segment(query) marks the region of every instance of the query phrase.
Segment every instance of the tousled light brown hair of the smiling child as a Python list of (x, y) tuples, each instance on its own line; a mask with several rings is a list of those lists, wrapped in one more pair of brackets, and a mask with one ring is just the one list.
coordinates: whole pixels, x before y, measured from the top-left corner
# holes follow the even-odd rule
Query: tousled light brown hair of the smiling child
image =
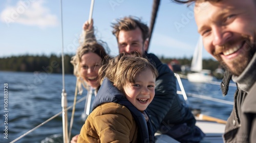
[(99, 69), (99, 80), (102, 84), (104, 77), (108, 78), (113, 84), (123, 91), (123, 86), (127, 82), (135, 83), (137, 76), (144, 69), (151, 69), (155, 78), (158, 76), (158, 71), (155, 67), (155, 63), (152, 61), (139, 57), (139, 54), (125, 55), (121, 53), (114, 59), (111, 59), (108, 64), (104, 64)]

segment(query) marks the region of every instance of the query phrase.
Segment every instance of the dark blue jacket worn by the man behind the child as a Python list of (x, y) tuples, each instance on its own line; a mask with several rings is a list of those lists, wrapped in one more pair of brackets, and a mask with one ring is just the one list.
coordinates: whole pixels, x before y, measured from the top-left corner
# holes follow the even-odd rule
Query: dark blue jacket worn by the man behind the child
[(173, 71), (154, 54), (145, 56), (155, 62), (158, 71), (155, 97), (146, 109), (154, 132), (158, 130), (180, 142), (200, 141), (205, 134), (196, 126), (191, 110), (180, 100)]

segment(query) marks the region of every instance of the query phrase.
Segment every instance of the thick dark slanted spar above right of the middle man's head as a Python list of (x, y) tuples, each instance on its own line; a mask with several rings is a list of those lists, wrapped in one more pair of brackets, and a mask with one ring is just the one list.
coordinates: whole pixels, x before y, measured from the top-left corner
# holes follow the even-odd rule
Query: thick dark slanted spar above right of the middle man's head
[(148, 51), (148, 48), (150, 47), (150, 41), (151, 41), (154, 26), (155, 26), (159, 5), (160, 5), (160, 0), (154, 0), (153, 10), (151, 15), (151, 23), (150, 23), (150, 37), (148, 37), (147, 51)]

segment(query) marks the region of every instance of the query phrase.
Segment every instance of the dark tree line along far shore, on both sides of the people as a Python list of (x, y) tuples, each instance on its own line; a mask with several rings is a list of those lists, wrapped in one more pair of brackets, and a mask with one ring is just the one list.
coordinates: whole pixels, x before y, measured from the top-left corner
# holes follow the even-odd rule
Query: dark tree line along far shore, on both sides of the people
[[(70, 63), (73, 55), (64, 56), (64, 66), (66, 74), (73, 74), (73, 65)], [(180, 65), (191, 64), (191, 58), (164, 58), (159, 57), (163, 63), (171, 63), (172, 61), (178, 61)], [(214, 59), (203, 59), (203, 69), (209, 69), (214, 71), (219, 67), (219, 62)], [(57, 56), (51, 54), (46, 55), (22, 55), (22, 56), (11, 56), (0, 58), (0, 70), (1, 71), (45, 71), (47, 73), (61, 73), (62, 72), (62, 61), (61, 55)]]

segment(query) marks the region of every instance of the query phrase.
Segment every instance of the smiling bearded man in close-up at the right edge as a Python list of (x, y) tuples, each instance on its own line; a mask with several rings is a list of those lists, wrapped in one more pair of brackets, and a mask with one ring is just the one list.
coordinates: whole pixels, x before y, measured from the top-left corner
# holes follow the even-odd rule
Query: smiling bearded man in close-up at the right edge
[(174, 1), (195, 2), (195, 19), (204, 47), (226, 68), (223, 95), (231, 78), (237, 83), (224, 141), (256, 142), (256, 1)]

